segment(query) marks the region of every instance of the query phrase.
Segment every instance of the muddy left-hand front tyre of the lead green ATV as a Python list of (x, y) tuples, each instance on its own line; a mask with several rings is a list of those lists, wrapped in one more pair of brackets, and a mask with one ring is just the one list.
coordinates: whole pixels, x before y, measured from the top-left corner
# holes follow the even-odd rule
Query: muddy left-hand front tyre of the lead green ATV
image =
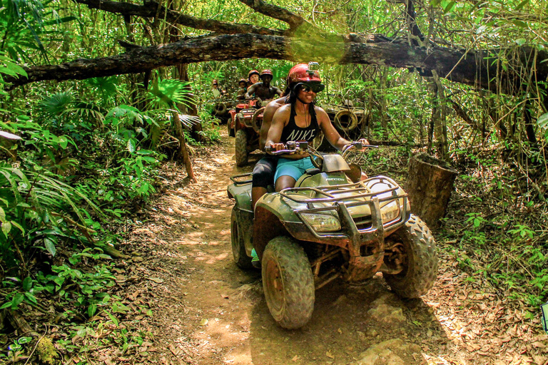
[(275, 237), (263, 253), (263, 291), (270, 314), (281, 327), (303, 327), (312, 317), (315, 288), (308, 257), (295, 240)]

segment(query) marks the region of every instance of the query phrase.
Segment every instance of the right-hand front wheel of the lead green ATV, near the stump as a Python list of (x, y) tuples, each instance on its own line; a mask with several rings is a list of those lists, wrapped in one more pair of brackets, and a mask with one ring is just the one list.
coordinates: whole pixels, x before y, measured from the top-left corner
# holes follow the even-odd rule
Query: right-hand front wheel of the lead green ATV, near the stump
[(425, 222), (411, 215), (409, 220), (387, 240), (392, 240), (395, 250), (385, 255), (385, 264), (394, 266), (396, 258), (402, 272), (383, 274), (388, 285), (402, 298), (418, 298), (430, 290), (437, 276), (436, 242)]

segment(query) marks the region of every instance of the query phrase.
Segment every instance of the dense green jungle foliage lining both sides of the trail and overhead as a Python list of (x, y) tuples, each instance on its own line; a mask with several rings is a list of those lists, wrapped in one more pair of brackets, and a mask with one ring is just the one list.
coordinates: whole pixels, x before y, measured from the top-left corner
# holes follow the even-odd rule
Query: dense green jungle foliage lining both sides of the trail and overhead
[[(390, 37), (408, 33), (402, 4), (276, 3), (325, 31)], [(287, 28), (237, 0), (170, 4), (203, 19)], [(432, 0), (417, 2), (415, 10), (423, 34), (438, 44), (507, 49), (492, 54), (492, 62), (505, 71), (511, 67), (507, 57), (512, 48), (529, 45), (541, 51), (547, 46), (546, 6), (539, 0)], [(125, 23), (121, 16), (66, 0), (2, 0), (0, 83), (4, 85), (7, 75), (25, 77), (21, 64), (117, 54), (119, 38), (141, 45), (168, 43), (173, 41), (171, 27), (162, 19), (131, 17)], [(176, 36), (206, 33), (184, 27), (178, 32)], [(118, 227), (156, 192), (161, 163), (176, 155), (177, 143), (170, 139), (173, 113), (181, 113), (186, 136), (195, 148), (215, 143), (220, 133), (211, 123), (215, 122), (210, 116), (211, 81), (218, 79), (220, 88), (233, 96), (238, 80), (250, 69), (270, 68), (273, 83), (283, 89), (291, 66), (265, 59), (205, 62), (188, 65), (188, 78), (161, 69), (150, 78), (129, 75), (3, 89), (0, 292), (5, 299), (1, 308), (45, 311), (45, 303), (55, 298), (71, 324), (71, 336), (93, 331), (95, 322), (83, 322), (100, 312), (117, 324), (116, 313), (126, 309), (119, 298), (106, 294), (114, 279), (112, 247), (121, 240)], [(368, 121), (360, 125), (359, 135), (347, 137), (363, 135), (401, 145), (362, 156), (360, 163), (369, 173), (394, 169), (402, 173), (416, 148), (455, 165), (461, 175), (440, 232), (440, 240), (447, 242), (442, 247), (455, 254), (472, 278), (487, 278), (502, 294), (525, 301), (534, 313), (548, 294), (548, 114), (539, 91), (546, 81), (534, 80), (532, 70), (523, 70), (528, 92), (507, 96), (443, 79), (445, 93), (440, 94), (432, 93), (432, 78), (416, 71), (322, 66), (327, 86), (319, 96), (323, 106), (349, 99), (367, 110)], [(198, 134), (192, 132), (197, 118), (186, 115), (193, 106), (203, 127)], [(441, 118), (435, 117), (436, 106)], [(150, 315), (146, 307), (141, 310)], [(142, 334), (117, 335), (114, 341), (122, 349), (127, 349), (128, 341), (142, 341)], [(26, 339), (11, 344), (11, 355)], [(77, 351), (70, 338), (62, 345), (66, 351)]]

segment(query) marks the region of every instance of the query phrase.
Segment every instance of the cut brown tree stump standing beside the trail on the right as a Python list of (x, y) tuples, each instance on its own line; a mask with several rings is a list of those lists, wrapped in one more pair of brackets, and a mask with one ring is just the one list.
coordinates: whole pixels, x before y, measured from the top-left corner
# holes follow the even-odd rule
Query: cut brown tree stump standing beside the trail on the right
[(407, 181), (411, 212), (421, 217), (430, 229), (440, 227), (456, 177), (457, 170), (449, 163), (427, 153), (411, 158)]

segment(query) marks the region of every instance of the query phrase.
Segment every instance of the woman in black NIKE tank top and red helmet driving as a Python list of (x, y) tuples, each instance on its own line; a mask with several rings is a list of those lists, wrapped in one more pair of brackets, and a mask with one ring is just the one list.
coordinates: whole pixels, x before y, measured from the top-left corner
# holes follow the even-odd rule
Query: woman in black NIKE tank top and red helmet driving
[[(329, 143), (338, 150), (344, 150), (350, 141), (342, 138), (331, 123), (323, 108), (314, 105), (314, 100), (325, 86), (320, 73), (310, 69), (318, 63), (300, 63), (289, 71), (290, 95), (288, 103), (276, 110), (265, 146), (272, 150), (283, 150), (288, 141), (311, 143), (322, 130)], [(368, 145), (367, 140), (360, 142)], [(310, 156), (305, 154), (280, 155), (275, 173), (275, 190), (295, 186), (295, 182), (307, 169), (314, 168)]]

